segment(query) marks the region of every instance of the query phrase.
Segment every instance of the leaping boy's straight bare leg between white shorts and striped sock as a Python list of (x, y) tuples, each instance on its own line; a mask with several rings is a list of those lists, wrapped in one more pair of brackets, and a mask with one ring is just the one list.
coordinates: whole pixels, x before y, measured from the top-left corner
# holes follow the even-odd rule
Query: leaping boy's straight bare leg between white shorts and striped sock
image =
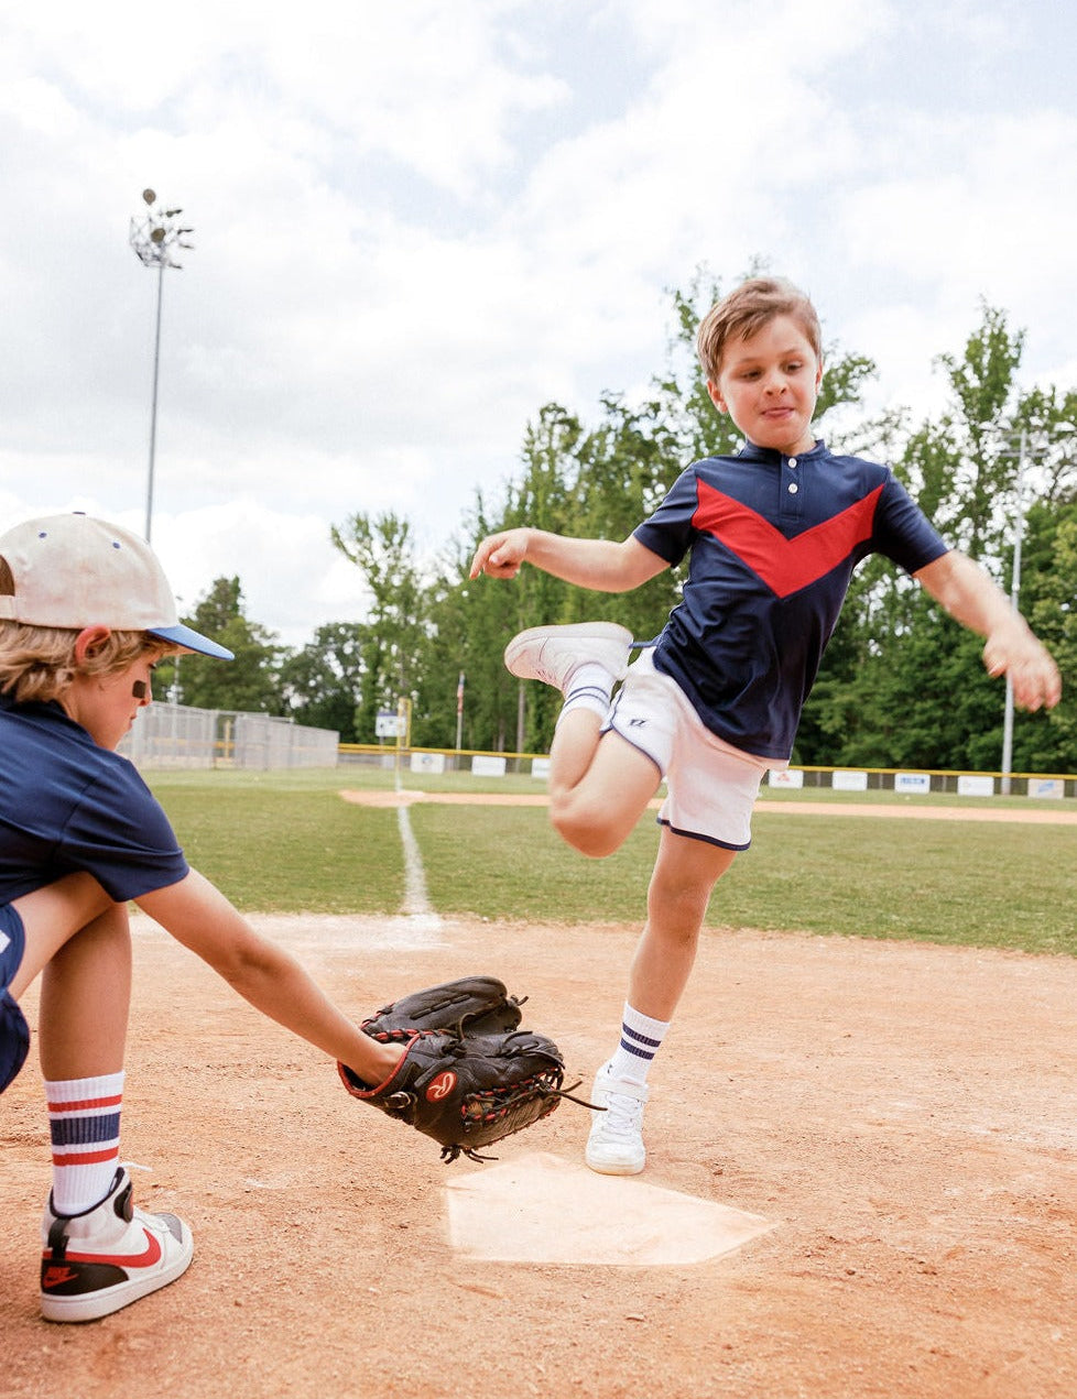
[(696, 960), (711, 891), (735, 853), (662, 827), (647, 890), (647, 923), (629, 975), (629, 1004), (641, 1014), (672, 1018)]

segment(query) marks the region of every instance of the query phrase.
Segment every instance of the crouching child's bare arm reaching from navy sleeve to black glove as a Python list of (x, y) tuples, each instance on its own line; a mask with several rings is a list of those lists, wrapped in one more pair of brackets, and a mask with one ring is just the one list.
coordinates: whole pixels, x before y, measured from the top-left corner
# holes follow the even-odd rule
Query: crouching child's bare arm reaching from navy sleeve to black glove
[(197, 870), (136, 902), (256, 1010), (346, 1063), (363, 1080), (382, 1083), (399, 1059), (399, 1045), (380, 1045), (364, 1035), (290, 953), (256, 933)]

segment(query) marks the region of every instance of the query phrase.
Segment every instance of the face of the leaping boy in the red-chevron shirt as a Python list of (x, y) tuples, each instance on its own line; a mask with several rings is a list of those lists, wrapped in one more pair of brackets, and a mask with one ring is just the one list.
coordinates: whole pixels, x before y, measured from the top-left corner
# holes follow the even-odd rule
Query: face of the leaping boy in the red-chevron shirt
[(753, 336), (730, 340), (707, 392), (749, 442), (784, 456), (815, 446), (811, 420), (822, 364), (793, 316), (774, 316)]

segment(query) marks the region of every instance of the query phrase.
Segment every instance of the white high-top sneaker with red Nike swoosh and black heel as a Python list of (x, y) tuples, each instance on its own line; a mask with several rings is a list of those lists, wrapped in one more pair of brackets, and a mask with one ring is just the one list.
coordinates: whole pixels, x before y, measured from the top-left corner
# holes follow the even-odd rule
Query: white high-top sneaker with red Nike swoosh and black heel
[(55, 1214), (50, 1198), (41, 1233), (41, 1314), (46, 1321), (108, 1316), (175, 1281), (193, 1252), (183, 1220), (133, 1206), (125, 1167), (105, 1199), (84, 1214)]

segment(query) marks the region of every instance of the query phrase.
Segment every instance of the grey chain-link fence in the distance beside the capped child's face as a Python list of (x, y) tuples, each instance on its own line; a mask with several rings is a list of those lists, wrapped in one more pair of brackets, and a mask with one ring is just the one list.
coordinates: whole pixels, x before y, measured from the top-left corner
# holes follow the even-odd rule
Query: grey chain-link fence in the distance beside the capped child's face
[(333, 768), (339, 739), (267, 713), (158, 704), (140, 712), (118, 751), (139, 768)]

